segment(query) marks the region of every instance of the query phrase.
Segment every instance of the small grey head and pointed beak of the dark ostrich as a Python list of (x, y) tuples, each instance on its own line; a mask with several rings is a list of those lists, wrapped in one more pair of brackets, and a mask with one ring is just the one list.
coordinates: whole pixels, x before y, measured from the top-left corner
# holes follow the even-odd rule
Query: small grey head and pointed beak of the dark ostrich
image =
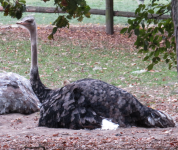
[(21, 25), (29, 30), (29, 32), (32, 32), (34, 29), (36, 29), (36, 23), (35, 18), (32, 16), (24, 17), (21, 21), (18, 21), (16, 24)]

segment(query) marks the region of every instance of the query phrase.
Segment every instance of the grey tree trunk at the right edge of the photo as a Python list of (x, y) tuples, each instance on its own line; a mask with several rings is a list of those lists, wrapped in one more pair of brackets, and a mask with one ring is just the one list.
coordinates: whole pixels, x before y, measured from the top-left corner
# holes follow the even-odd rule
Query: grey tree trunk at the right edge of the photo
[(172, 19), (174, 23), (174, 36), (176, 42), (177, 73), (178, 73), (178, 0), (172, 0)]

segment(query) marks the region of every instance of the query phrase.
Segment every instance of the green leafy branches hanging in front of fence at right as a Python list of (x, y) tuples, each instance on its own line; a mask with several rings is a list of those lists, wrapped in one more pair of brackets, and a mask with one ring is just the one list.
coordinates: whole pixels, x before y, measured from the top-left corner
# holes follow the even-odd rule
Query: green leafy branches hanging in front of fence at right
[[(133, 33), (137, 36), (135, 46), (139, 49), (138, 52), (147, 54), (144, 61), (152, 60), (147, 67), (148, 70), (151, 70), (161, 60), (168, 64), (169, 69), (177, 64), (171, 2), (158, 4), (157, 1), (152, 0), (147, 6), (139, 5), (135, 10), (137, 17), (129, 19), (129, 27), (121, 30), (121, 33), (129, 33), (129, 37)], [(170, 14), (170, 18), (160, 20), (159, 17), (164, 14)]]

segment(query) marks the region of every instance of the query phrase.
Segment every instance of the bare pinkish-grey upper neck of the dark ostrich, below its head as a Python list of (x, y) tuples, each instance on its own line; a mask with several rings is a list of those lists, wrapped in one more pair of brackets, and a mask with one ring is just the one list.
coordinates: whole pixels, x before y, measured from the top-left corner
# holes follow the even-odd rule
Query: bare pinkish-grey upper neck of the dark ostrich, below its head
[(37, 33), (36, 26), (30, 31), (31, 36), (31, 69), (38, 68), (38, 55), (37, 55)]

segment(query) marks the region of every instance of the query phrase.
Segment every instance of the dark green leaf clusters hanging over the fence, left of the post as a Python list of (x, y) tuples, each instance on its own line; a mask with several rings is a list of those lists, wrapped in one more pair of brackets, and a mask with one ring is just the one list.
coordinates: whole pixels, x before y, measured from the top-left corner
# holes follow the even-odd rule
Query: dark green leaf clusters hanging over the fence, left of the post
[[(50, 0), (42, 0), (44, 2)], [(20, 19), (23, 12), (26, 10), (26, 0), (0, 0), (1, 5), (4, 8), (4, 16), (11, 16), (13, 18)], [(90, 17), (90, 7), (86, 4), (85, 0), (55, 0), (54, 5), (56, 10), (58, 8), (67, 12), (67, 15), (59, 15), (58, 18), (52, 23), (55, 25), (52, 33), (49, 35), (49, 39), (53, 38), (58, 28), (68, 27), (69, 20), (77, 18), (78, 21), (82, 21), (84, 17)]]

